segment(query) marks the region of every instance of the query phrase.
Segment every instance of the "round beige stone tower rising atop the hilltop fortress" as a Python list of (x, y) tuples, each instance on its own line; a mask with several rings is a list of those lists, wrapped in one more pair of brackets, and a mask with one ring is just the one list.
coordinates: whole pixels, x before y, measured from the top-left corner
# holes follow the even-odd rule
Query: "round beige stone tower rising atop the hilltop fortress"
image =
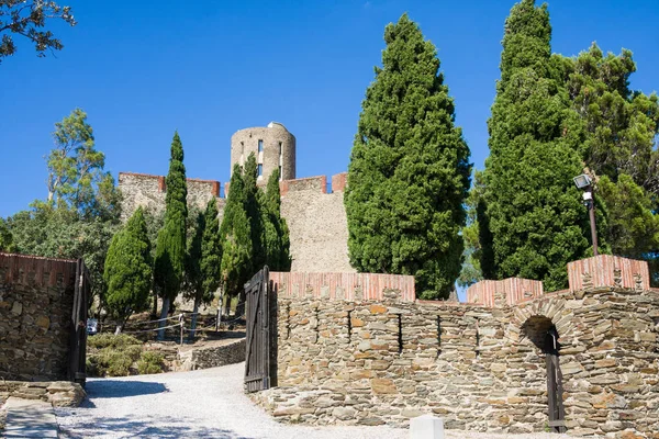
[(245, 128), (231, 136), (231, 172), (235, 164), (245, 165), (254, 153), (258, 164), (258, 184), (279, 168), (281, 180), (295, 178), (295, 136), (282, 124), (270, 122), (266, 127)]

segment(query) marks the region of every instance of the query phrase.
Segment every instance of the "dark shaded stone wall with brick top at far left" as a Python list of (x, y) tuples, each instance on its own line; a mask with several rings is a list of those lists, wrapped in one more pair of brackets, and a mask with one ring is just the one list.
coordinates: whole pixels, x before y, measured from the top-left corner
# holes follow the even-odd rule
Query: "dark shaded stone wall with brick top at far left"
[(66, 380), (76, 261), (0, 254), (0, 378)]

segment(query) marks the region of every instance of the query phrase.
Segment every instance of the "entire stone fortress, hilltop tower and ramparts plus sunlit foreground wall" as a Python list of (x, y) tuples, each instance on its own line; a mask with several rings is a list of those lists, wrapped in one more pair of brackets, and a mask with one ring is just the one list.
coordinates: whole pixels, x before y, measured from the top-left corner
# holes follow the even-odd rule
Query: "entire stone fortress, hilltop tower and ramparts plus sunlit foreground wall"
[[(257, 154), (259, 184), (279, 167), (291, 272), (270, 272), (273, 387), (252, 394), (280, 421), (659, 439), (659, 290), (647, 262), (573, 261), (569, 289), (481, 281), (467, 302), (415, 297), (412, 277), (356, 273), (346, 173), (297, 179), (295, 138), (278, 123), (237, 132), (231, 166)], [(165, 177), (121, 172), (124, 215), (161, 210)], [(226, 192), (226, 191), (225, 191)], [(205, 206), (217, 181), (188, 180)]]

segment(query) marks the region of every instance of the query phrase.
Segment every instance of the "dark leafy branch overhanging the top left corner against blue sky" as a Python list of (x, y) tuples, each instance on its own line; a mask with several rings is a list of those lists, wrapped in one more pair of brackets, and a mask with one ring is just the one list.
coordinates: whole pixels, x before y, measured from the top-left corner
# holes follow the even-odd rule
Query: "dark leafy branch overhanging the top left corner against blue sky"
[(64, 45), (53, 32), (43, 30), (46, 22), (54, 20), (62, 20), (70, 26), (77, 24), (71, 8), (60, 7), (54, 1), (0, 1), (0, 63), (16, 52), (14, 36), (32, 42), (40, 57), (46, 56), (46, 50), (62, 50)]

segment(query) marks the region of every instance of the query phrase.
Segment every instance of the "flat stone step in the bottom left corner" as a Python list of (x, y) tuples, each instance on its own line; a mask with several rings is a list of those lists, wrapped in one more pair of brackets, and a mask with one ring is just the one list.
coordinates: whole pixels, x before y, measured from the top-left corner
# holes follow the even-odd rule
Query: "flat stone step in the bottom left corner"
[(58, 438), (59, 428), (51, 403), (12, 396), (7, 399), (5, 408), (4, 438)]

